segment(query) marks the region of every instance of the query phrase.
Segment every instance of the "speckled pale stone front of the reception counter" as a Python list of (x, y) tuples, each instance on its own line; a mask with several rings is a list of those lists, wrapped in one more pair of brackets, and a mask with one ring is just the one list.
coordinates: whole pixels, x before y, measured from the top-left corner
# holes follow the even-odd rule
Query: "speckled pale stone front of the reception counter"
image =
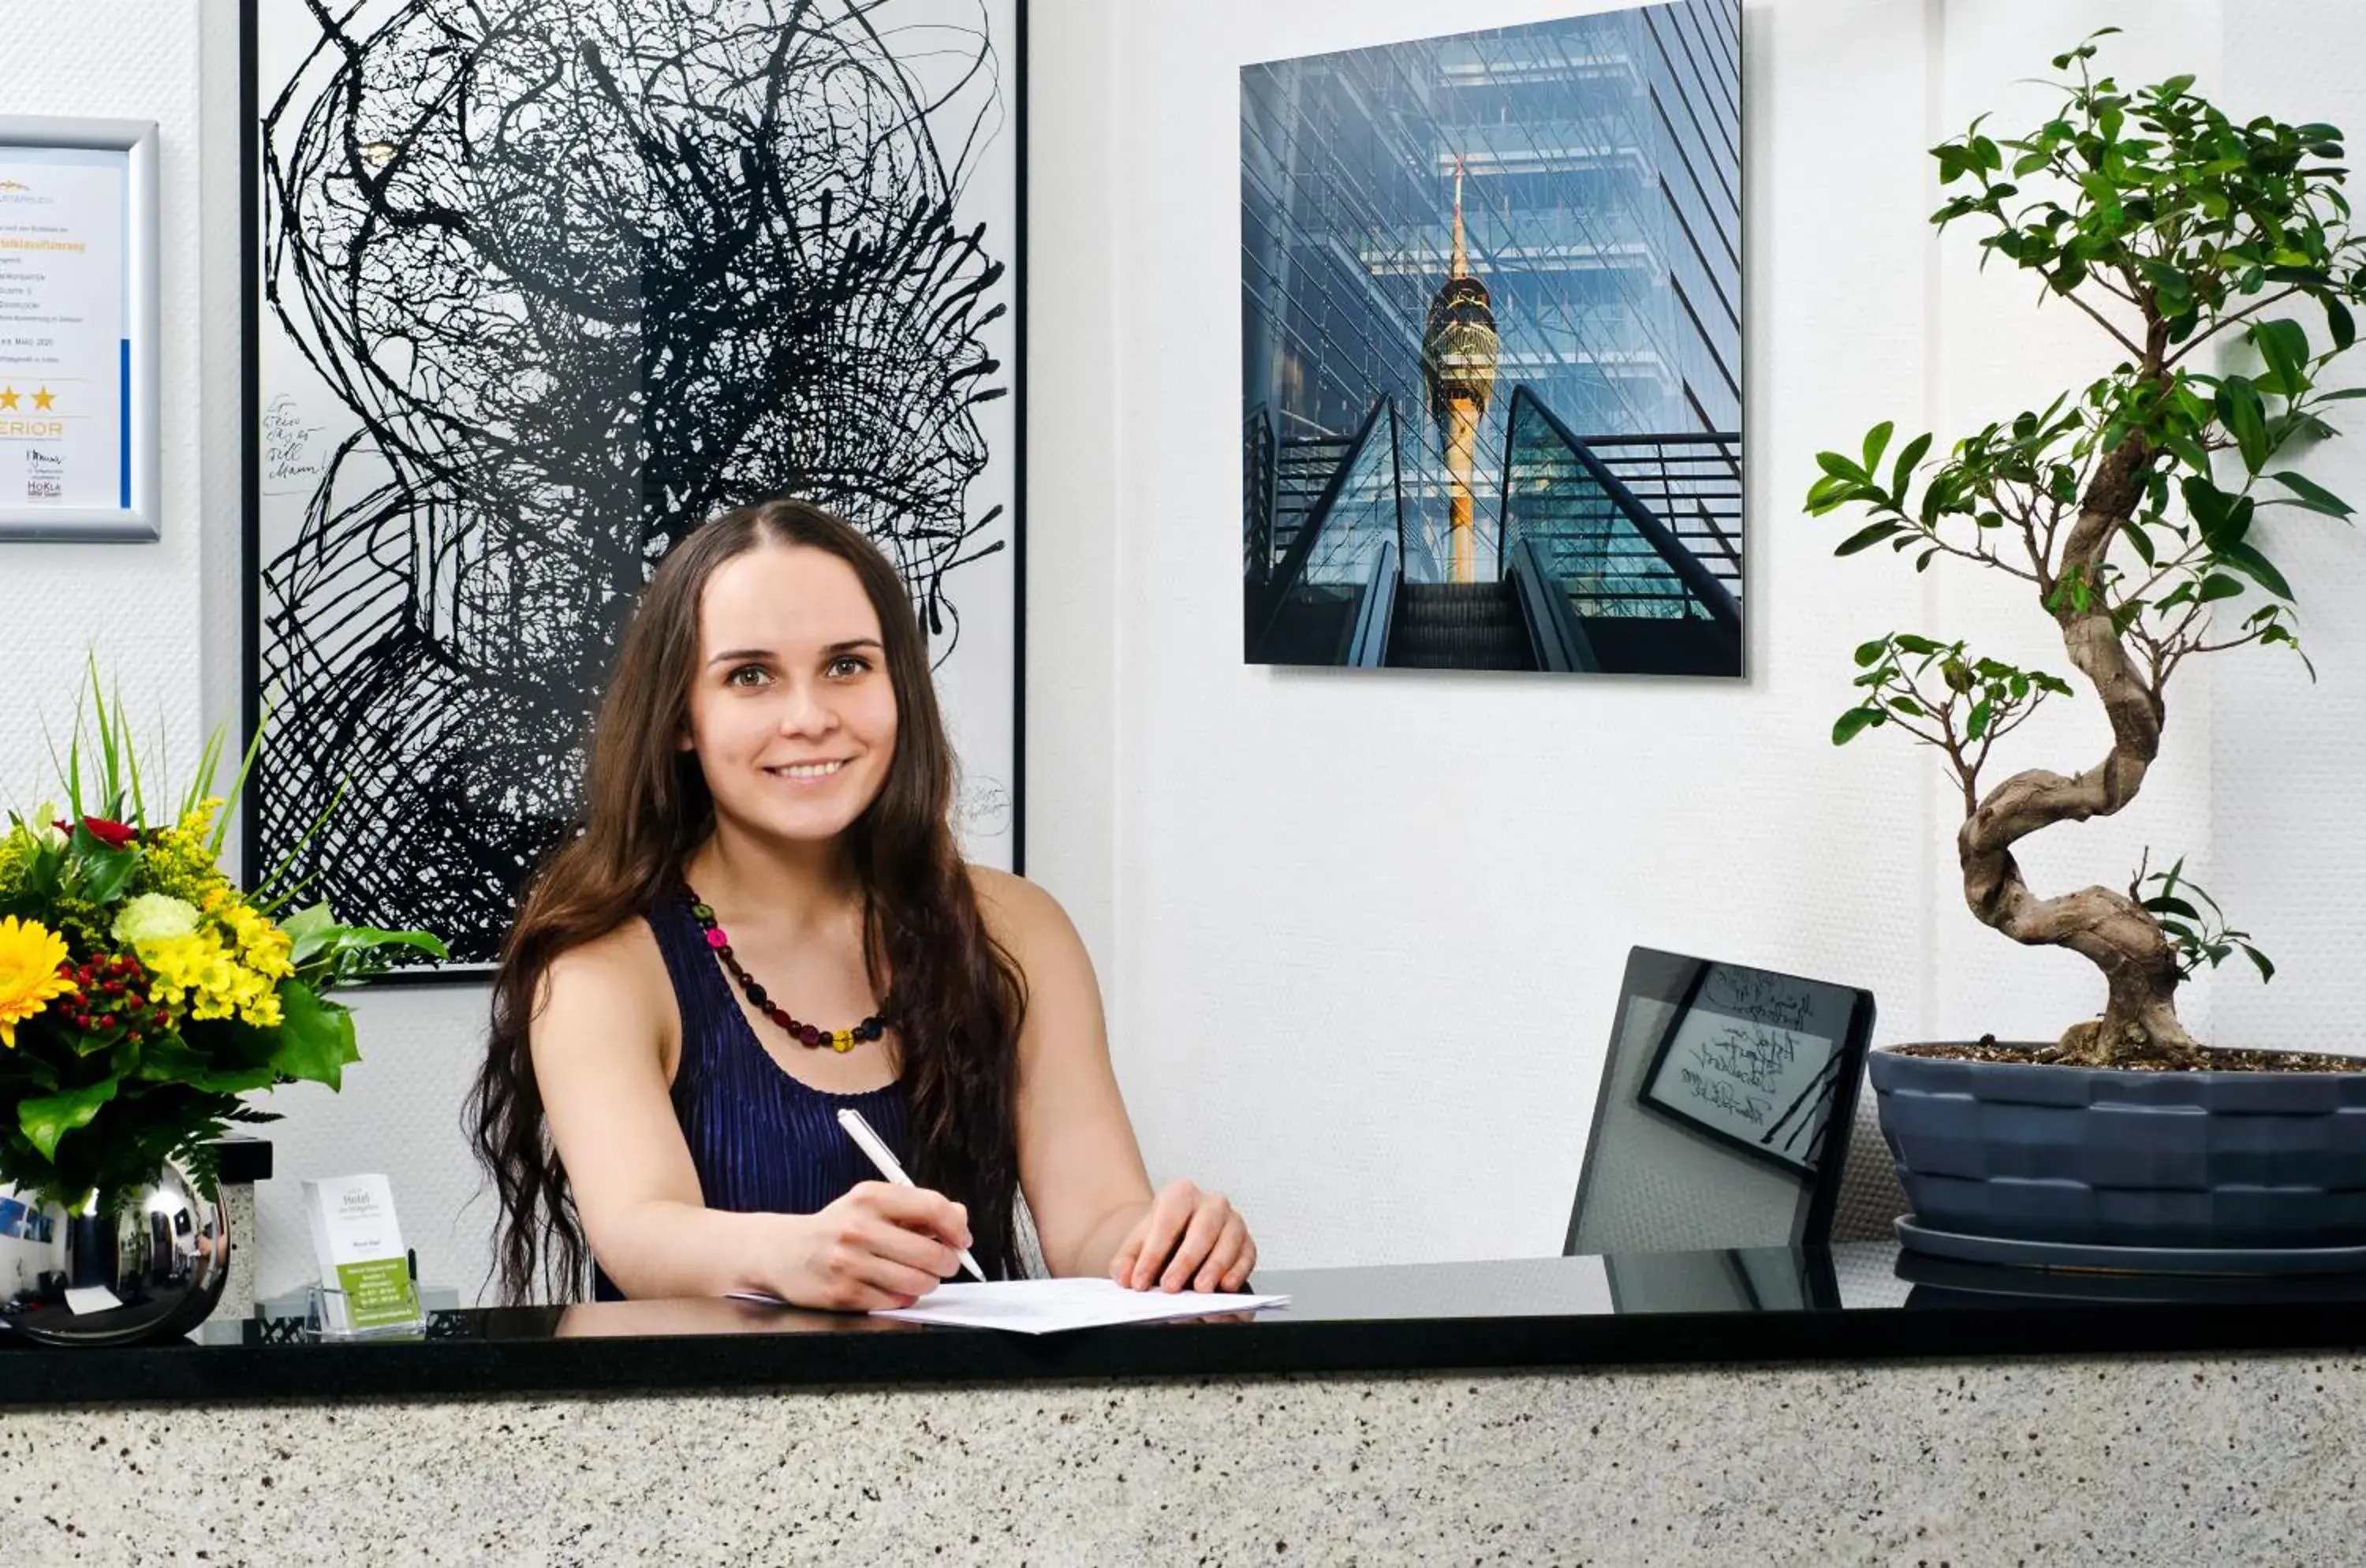
[[(620, 1346), (620, 1353), (625, 1346)], [(0, 1412), (19, 1563), (2357, 1563), (2366, 1360)]]

